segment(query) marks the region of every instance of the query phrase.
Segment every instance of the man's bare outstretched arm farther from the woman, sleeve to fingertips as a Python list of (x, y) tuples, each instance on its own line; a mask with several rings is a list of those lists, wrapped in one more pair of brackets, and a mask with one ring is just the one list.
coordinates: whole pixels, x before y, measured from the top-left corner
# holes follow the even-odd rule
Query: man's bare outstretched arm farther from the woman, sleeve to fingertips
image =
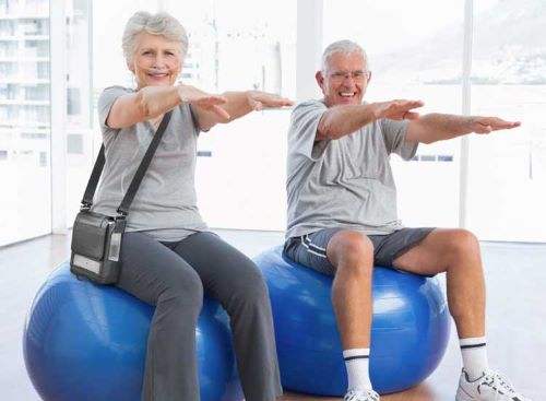
[(405, 141), (432, 143), (471, 132), (489, 133), (520, 125), (520, 121), (505, 121), (498, 117), (428, 114), (410, 122)]

